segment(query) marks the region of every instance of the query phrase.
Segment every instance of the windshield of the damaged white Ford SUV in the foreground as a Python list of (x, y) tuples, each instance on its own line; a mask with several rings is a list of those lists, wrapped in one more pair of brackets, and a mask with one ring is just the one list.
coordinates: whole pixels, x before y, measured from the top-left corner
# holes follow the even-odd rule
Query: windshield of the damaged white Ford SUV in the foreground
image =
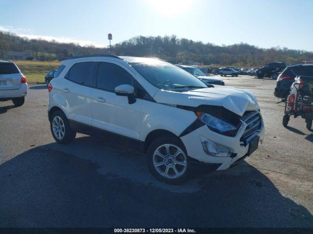
[(159, 89), (187, 91), (207, 88), (198, 78), (179, 67), (168, 63), (130, 63), (134, 69)]

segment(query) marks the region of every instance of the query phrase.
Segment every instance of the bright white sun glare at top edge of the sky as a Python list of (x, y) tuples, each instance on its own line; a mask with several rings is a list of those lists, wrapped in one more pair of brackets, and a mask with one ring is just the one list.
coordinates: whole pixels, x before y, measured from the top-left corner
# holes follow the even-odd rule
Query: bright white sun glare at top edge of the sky
[(151, 5), (157, 11), (166, 14), (174, 15), (185, 12), (193, 0), (149, 0)]

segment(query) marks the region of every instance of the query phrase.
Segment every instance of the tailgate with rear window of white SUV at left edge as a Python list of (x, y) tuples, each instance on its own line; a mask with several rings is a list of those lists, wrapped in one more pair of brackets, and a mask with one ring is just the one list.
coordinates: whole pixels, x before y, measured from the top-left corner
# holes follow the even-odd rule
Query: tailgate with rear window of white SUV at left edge
[(19, 89), (21, 72), (13, 62), (0, 62), (0, 90)]

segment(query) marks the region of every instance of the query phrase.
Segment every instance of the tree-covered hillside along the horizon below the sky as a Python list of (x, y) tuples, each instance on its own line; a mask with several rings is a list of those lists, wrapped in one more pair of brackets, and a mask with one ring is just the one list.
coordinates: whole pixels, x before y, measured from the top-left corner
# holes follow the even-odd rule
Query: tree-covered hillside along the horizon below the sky
[[(6, 51), (31, 52), (38, 60), (63, 60), (74, 55), (109, 53), (108, 48), (77, 43), (60, 43), (43, 39), (21, 38), (15, 34), (0, 32), (0, 57)], [(215, 45), (177, 36), (138, 36), (112, 46), (112, 53), (118, 56), (152, 56), (172, 63), (193, 63), (232, 65), (238, 67), (260, 67), (268, 62), (282, 61), (288, 64), (312, 60), (313, 52), (291, 50), (286, 47), (264, 49), (246, 43)]]

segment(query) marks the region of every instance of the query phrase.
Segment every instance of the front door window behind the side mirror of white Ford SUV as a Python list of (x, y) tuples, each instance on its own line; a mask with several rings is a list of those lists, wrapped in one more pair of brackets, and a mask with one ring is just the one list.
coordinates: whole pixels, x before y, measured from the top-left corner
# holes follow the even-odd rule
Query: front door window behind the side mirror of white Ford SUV
[(97, 88), (114, 92), (121, 84), (133, 84), (134, 78), (124, 68), (109, 62), (99, 62)]

